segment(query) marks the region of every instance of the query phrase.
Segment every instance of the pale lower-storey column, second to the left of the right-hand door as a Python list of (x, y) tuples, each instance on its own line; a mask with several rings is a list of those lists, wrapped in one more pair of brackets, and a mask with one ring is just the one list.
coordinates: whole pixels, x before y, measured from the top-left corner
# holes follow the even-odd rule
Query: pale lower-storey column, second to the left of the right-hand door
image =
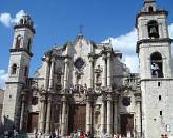
[(107, 134), (112, 134), (112, 97), (107, 95)]

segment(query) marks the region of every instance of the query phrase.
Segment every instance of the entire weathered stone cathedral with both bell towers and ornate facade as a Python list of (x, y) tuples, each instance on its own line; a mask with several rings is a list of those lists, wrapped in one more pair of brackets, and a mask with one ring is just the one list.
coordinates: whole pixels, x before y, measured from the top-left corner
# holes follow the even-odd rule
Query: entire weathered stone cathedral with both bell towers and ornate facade
[(42, 66), (29, 78), (36, 30), (25, 14), (14, 26), (9, 50), (2, 129), (62, 137), (75, 130), (95, 137), (173, 135), (167, 16), (155, 0), (144, 0), (136, 18), (139, 74), (129, 72), (111, 42), (95, 43), (80, 32), (73, 41), (46, 51)]

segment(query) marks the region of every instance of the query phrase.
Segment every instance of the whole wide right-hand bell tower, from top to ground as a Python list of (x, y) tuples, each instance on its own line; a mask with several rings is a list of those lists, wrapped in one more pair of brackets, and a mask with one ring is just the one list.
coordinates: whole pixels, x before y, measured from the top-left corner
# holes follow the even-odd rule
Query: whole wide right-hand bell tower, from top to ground
[(144, 0), (136, 19), (145, 138), (173, 134), (172, 40), (167, 16), (167, 11), (157, 7), (156, 0)]

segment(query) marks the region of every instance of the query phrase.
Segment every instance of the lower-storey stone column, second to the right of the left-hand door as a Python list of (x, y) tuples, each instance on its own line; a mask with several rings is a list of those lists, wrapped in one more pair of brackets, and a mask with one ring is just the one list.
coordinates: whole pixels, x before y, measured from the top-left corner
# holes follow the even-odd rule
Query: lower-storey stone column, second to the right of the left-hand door
[(52, 103), (52, 95), (49, 93), (47, 99), (47, 113), (46, 113), (46, 133), (49, 134), (50, 132), (50, 110), (51, 110), (51, 103)]

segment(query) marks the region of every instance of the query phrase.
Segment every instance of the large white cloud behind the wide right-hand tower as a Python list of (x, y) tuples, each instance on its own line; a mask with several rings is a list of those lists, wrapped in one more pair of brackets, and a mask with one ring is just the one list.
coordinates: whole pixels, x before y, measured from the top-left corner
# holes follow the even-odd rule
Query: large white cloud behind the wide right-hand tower
[[(173, 39), (173, 23), (168, 26), (169, 36)], [(119, 50), (123, 54), (123, 61), (130, 69), (130, 72), (139, 72), (139, 61), (136, 53), (137, 30), (120, 35), (117, 38), (108, 38), (104, 42), (112, 41), (114, 50)]]

